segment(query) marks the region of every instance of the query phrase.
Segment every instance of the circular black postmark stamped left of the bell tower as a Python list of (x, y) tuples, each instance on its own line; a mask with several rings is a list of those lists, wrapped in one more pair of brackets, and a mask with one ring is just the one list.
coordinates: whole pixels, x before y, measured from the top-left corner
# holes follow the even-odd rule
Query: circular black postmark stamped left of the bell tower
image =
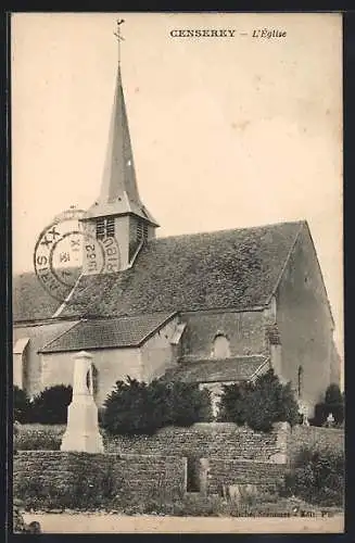
[(85, 212), (68, 210), (58, 215), (40, 233), (34, 253), (38, 280), (55, 300), (68, 300), (78, 278), (118, 272), (119, 248), (114, 237), (98, 239), (80, 222)]

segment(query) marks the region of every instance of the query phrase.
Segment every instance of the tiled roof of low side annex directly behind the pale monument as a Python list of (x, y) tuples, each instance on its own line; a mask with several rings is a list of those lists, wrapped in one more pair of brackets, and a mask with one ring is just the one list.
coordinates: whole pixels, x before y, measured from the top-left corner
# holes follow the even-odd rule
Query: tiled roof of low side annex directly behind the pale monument
[(155, 313), (138, 317), (81, 320), (45, 345), (40, 352), (138, 346), (173, 316), (172, 313)]

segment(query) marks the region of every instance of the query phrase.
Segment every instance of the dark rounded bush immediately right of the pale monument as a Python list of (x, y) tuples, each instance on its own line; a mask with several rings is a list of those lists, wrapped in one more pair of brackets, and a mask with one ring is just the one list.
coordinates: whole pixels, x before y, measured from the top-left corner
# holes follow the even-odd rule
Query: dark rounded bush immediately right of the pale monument
[(164, 426), (211, 420), (211, 399), (198, 384), (117, 381), (104, 403), (103, 427), (111, 434), (152, 434)]

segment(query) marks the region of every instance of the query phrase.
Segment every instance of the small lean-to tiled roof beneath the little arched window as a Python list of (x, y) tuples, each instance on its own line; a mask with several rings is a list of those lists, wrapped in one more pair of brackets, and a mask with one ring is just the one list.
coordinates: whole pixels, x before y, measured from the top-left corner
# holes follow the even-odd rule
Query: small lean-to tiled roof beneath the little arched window
[(180, 363), (177, 369), (167, 371), (165, 378), (185, 382), (245, 381), (266, 361), (265, 356), (255, 355)]

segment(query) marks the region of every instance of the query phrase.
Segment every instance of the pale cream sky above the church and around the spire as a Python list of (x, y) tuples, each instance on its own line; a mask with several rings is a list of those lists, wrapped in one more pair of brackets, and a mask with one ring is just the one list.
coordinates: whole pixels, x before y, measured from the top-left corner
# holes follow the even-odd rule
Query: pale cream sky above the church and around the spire
[[(13, 273), (100, 192), (117, 68), (157, 236), (306, 219), (343, 350), (339, 14), (12, 15)], [(234, 29), (173, 38), (173, 29)], [(258, 28), (283, 38), (253, 38)], [(246, 33), (241, 36), (240, 33)]]

